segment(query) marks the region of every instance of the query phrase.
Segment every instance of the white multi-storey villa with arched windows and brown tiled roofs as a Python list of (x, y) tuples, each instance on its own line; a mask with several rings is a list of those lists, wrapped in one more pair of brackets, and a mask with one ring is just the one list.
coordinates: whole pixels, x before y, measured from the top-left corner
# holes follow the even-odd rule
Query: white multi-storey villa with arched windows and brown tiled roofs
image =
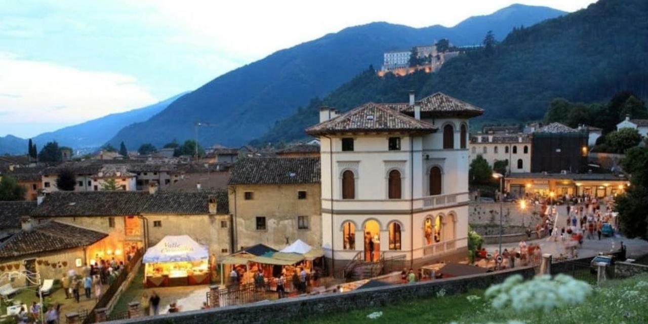
[(482, 113), (413, 91), (408, 103), (321, 108), (307, 133), (321, 141), (322, 246), (334, 271), (354, 259), (465, 255), (469, 119)]

